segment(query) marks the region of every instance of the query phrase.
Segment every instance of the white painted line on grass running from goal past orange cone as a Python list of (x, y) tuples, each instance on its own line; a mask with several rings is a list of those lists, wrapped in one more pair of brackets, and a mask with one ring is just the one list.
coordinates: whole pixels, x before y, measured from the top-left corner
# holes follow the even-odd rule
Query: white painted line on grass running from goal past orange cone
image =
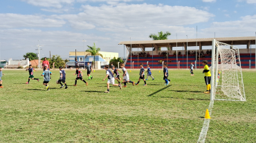
[[(213, 107), (213, 104), (214, 104), (214, 101), (210, 101), (210, 104), (209, 104), (209, 114), (212, 115), (212, 107)], [(208, 128), (209, 128), (209, 124), (210, 124), (210, 119), (205, 119), (204, 122), (203, 122), (203, 128), (201, 130), (201, 133), (199, 135), (199, 139), (197, 142), (205, 142), (205, 138), (206, 138), (206, 135), (207, 135), (207, 131), (208, 131)]]

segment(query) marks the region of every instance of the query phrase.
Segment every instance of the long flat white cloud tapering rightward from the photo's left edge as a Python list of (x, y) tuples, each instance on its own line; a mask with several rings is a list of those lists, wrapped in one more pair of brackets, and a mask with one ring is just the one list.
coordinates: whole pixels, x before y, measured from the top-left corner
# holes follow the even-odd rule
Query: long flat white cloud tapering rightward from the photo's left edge
[(0, 14), (0, 28), (56, 28), (65, 24), (61, 19), (44, 15)]

